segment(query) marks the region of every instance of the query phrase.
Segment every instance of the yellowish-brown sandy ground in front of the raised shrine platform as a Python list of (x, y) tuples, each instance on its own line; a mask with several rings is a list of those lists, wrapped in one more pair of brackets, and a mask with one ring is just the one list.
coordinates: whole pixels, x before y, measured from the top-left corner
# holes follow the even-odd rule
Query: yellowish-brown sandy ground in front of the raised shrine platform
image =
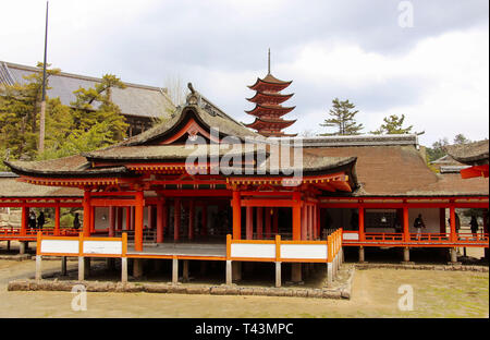
[[(44, 274), (59, 260), (42, 263)], [(69, 262), (69, 269), (76, 262)], [(468, 271), (357, 270), (351, 300), (87, 293), (87, 311), (71, 308), (70, 292), (9, 292), (10, 280), (34, 277), (35, 262), (0, 260), (0, 317), (488, 317), (489, 275)], [(401, 284), (414, 288), (414, 311), (397, 307)]]

